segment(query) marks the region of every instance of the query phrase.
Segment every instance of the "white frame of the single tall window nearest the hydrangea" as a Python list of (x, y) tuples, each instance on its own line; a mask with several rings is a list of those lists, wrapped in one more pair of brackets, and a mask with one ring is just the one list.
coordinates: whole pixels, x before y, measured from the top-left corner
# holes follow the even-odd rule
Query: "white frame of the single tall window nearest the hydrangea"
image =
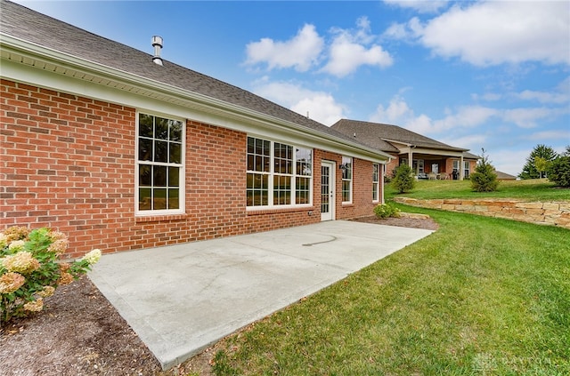
[[(178, 177), (179, 181), (179, 204), (180, 207), (178, 209), (163, 209), (163, 210), (139, 210), (139, 115), (150, 115), (150, 116), (159, 116), (163, 118), (167, 118), (170, 120), (177, 120), (182, 122), (183, 124), (183, 131), (182, 131), (182, 148), (181, 148), (181, 161), (182, 164), (168, 164), (168, 163), (159, 163), (159, 162), (152, 162), (151, 164), (154, 165), (166, 165), (166, 166), (173, 166), (180, 167), (180, 175)], [(166, 114), (160, 114), (153, 111), (146, 111), (146, 110), (137, 110), (136, 111), (136, 119), (135, 119), (135, 127), (134, 127), (134, 215), (136, 217), (154, 217), (160, 215), (177, 215), (183, 214), (185, 212), (185, 196), (186, 196), (186, 119), (180, 118), (178, 116), (169, 116)], [(148, 164), (148, 161), (142, 161), (143, 164)]]

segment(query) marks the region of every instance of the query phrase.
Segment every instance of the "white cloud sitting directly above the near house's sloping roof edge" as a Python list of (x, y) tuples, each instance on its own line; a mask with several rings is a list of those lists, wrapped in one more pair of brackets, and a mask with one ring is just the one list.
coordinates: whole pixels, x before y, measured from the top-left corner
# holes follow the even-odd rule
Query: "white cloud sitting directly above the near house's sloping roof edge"
[(254, 83), (254, 92), (268, 100), (280, 103), (298, 114), (325, 125), (335, 124), (344, 116), (344, 106), (328, 92), (314, 92), (301, 84), (270, 82), (267, 77)]

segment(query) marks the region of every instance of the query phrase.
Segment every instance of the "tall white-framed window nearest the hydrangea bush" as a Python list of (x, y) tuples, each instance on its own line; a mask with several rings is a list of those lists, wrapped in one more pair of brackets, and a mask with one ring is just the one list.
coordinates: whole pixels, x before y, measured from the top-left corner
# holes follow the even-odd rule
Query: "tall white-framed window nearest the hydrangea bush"
[(135, 213), (184, 212), (184, 122), (137, 113)]

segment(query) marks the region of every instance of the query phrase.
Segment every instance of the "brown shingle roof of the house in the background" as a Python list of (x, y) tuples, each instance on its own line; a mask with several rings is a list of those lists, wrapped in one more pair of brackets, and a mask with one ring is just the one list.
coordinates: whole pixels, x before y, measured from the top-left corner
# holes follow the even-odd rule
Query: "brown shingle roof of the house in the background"
[(346, 135), (353, 136), (354, 140), (358, 140), (372, 148), (379, 148), (387, 153), (398, 152), (398, 148), (395, 148), (390, 141), (411, 144), (419, 148), (434, 148), (461, 152), (466, 152), (468, 150), (466, 148), (452, 147), (444, 144), (443, 142), (430, 139), (419, 133), (411, 132), (400, 126), (391, 124), (342, 119), (336, 124), (333, 124), (331, 128), (338, 132), (345, 133)]

